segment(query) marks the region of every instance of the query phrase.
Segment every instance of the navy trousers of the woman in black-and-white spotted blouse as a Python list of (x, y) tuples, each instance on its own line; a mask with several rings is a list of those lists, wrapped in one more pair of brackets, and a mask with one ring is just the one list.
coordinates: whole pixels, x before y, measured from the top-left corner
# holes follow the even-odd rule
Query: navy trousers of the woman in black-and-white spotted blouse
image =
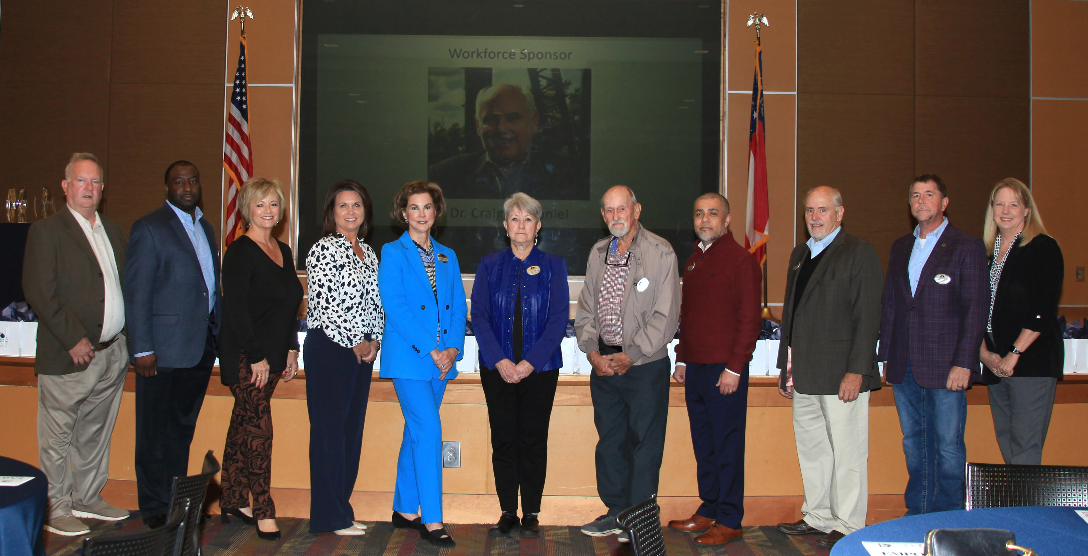
[(309, 330), (302, 353), (310, 415), (310, 532), (336, 531), (355, 520), (349, 498), (359, 474), (374, 363), (360, 363), (350, 347), (329, 339), (321, 329)]

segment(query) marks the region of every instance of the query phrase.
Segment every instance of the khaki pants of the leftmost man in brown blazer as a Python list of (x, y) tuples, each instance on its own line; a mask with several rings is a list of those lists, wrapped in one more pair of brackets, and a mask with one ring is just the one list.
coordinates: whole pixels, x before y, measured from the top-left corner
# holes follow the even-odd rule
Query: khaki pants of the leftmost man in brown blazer
[(102, 502), (127, 372), (128, 346), (121, 336), (96, 351), (85, 371), (38, 375), (38, 458), (49, 480), (46, 519)]

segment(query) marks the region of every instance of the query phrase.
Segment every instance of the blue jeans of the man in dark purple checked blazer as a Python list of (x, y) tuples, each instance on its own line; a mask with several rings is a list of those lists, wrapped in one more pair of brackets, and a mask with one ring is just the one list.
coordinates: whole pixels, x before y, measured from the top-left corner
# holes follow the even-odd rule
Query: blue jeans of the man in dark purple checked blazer
[(967, 392), (924, 388), (910, 363), (902, 384), (892, 386), (911, 475), (903, 494), (906, 515), (963, 509)]

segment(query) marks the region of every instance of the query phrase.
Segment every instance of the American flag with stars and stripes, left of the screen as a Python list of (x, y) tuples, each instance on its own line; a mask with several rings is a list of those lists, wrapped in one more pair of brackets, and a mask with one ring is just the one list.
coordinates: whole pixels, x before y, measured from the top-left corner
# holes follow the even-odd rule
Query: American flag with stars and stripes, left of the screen
[(238, 48), (238, 69), (234, 72), (231, 108), (226, 114), (226, 136), (223, 139), (223, 168), (231, 185), (226, 189), (226, 226), (224, 246), (245, 233), (238, 218), (238, 187), (254, 174), (254, 152), (249, 146), (249, 104), (246, 101), (246, 34)]

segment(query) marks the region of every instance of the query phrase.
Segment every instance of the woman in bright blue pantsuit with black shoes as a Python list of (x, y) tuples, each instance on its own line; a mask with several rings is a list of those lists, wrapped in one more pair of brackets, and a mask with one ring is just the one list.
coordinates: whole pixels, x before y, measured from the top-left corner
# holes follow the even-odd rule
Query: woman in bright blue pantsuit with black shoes
[(390, 214), (407, 228), (382, 247), (378, 286), (385, 308), (380, 376), (393, 379), (405, 417), (397, 458), (393, 526), (455, 546), (442, 526), (442, 420), (446, 381), (465, 349), (465, 286), (453, 249), (431, 238), (446, 202), (442, 189), (408, 182)]

